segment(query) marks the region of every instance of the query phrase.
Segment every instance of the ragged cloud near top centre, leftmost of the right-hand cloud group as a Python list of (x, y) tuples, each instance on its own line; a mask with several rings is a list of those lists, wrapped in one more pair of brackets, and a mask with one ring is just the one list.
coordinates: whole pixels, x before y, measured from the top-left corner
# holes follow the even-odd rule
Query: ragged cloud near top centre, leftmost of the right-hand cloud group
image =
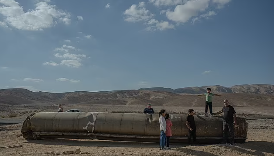
[(144, 2), (139, 2), (139, 5), (133, 4), (123, 14), (125, 15), (125, 21), (128, 22), (148, 21), (155, 16), (145, 8)]

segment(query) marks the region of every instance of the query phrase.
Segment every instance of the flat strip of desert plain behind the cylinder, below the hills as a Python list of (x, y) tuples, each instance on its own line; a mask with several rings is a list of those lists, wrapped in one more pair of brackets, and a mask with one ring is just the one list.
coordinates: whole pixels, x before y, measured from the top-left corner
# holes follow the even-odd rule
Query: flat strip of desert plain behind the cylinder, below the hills
[[(64, 111), (69, 109), (80, 109), (90, 112), (123, 112), (123, 113), (142, 113), (144, 105), (63, 105)], [(178, 107), (178, 106), (152, 106), (155, 113), (161, 109), (166, 109), (169, 114), (187, 114), (189, 108), (194, 109), (196, 114), (204, 114), (205, 107)], [(234, 107), (237, 116), (274, 116), (273, 107)], [(222, 107), (213, 107), (213, 112), (220, 111)], [(0, 119), (25, 119), (28, 115), (35, 112), (56, 112), (58, 105), (0, 105)], [(209, 113), (209, 110), (208, 110)]]

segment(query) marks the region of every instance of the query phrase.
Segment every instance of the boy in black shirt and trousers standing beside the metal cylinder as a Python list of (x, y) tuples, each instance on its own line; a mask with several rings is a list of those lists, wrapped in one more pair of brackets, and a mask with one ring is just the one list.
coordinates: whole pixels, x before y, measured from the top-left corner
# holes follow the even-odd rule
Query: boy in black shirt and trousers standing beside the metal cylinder
[(191, 137), (193, 138), (193, 142), (195, 143), (196, 141), (196, 125), (194, 121), (194, 116), (196, 115), (194, 113), (193, 109), (188, 110), (188, 116), (187, 120), (185, 121), (185, 124), (187, 125), (187, 130), (188, 130), (188, 143), (190, 145), (191, 143)]

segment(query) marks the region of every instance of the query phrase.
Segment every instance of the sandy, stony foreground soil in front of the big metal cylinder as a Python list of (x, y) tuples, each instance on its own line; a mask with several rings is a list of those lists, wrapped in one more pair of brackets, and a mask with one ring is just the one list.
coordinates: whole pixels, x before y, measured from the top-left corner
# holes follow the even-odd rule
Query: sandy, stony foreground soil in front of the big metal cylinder
[[(21, 124), (0, 126), (1, 147), (22, 145), (18, 148), (3, 149), (0, 147), (0, 155), (51, 155), (51, 152), (75, 151), (80, 148), (83, 156), (99, 155), (138, 155), (138, 156), (274, 156), (274, 120), (248, 120), (248, 140), (246, 143), (235, 146), (214, 144), (187, 146), (186, 144), (173, 144), (173, 150), (159, 150), (158, 143), (105, 141), (105, 140), (80, 140), (80, 139), (45, 139), (26, 140), (21, 134)], [(88, 152), (89, 154), (82, 154)]]

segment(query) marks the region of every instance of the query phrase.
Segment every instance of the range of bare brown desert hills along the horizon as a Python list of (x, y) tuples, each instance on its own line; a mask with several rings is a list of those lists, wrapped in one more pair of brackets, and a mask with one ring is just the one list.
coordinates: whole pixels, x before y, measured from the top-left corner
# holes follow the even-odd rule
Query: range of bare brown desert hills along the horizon
[(67, 93), (32, 92), (22, 88), (0, 90), (0, 104), (113, 104), (144, 105), (148, 102), (158, 106), (204, 106), (205, 97), (197, 94), (205, 93), (206, 88), (212, 93), (220, 93), (214, 97), (214, 106), (223, 106), (223, 99), (229, 99), (234, 106), (241, 107), (274, 107), (274, 85), (252, 84), (224, 86), (201, 86), (187, 88), (140, 88), (139, 90)]

